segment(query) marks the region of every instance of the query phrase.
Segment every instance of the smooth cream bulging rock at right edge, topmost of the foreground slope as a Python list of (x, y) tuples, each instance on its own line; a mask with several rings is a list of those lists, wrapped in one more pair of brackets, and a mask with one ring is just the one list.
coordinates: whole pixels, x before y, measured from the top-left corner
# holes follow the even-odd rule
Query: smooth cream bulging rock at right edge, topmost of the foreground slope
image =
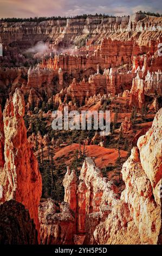
[[(140, 151), (140, 160), (142, 168), (144, 168), (148, 179), (151, 182), (155, 193), (157, 193), (156, 187), (161, 183), (162, 174), (162, 109), (158, 111), (153, 120), (153, 124), (150, 130), (146, 132), (144, 136), (141, 136), (138, 140), (138, 148)], [(147, 157), (149, 155), (149, 157)], [(157, 202), (158, 194), (154, 194), (155, 201)], [(158, 203), (158, 202), (157, 202)]]

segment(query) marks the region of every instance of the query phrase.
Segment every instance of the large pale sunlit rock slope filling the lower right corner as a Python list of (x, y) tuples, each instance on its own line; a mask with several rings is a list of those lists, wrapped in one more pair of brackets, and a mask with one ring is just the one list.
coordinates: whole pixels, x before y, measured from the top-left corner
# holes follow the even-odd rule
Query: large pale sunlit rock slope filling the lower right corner
[[(155, 244), (161, 240), (161, 125), (160, 109), (122, 167), (126, 188), (106, 221), (96, 227), (98, 243)], [(150, 157), (146, 157), (148, 151)]]

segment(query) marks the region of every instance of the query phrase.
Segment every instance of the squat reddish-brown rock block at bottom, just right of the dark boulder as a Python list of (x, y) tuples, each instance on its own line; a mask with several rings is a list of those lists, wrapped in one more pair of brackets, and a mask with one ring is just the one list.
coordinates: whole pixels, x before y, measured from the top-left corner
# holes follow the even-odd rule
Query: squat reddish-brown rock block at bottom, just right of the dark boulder
[(75, 214), (69, 204), (48, 199), (39, 206), (40, 236), (44, 245), (73, 245)]

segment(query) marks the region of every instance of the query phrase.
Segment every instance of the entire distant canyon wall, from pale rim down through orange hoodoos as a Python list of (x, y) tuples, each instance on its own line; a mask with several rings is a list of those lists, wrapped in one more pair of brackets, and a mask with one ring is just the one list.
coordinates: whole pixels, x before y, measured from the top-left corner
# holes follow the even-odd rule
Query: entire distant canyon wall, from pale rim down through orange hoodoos
[[(43, 101), (53, 99), (56, 93), (60, 93), (59, 109), (69, 101), (75, 109), (74, 103), (82, 105), (94, 94), (115, 96), (124, 91), (129, 91), (130, 108), (135, 103), (141, 109), (145, 96), (158, 97), (160, 101), (161, 17), (136, 13), (122, 18), (1, 23), (2, 66), (23, 65), (25, 51), (40, 40), (46, 42), (47, 48), (41, 58), (29, 58), (34, 60), (28, 63), (33, 68), (0, 70), (3, 106), (17, 87), (25, 96), (27, 110), (40, 108)], [(35, 62), (38, 64), (34, 65)]]

